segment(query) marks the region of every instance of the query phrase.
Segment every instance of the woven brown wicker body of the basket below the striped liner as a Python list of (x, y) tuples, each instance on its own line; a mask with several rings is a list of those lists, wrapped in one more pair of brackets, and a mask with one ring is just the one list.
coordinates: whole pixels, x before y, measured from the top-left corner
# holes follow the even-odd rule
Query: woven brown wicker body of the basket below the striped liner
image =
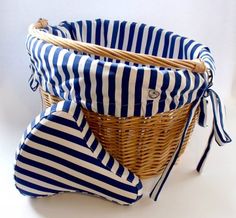
[[(41, 89), (43, 105), (62, 99)], [(140, 178), (161, 174), (180, 143), (191, 104), (151, 117), (115, 117), (83, 108), (86, 120), (102, 146)], [(189, 126), (180, 152), (183, 154), (194, 129), (199, 110)]]

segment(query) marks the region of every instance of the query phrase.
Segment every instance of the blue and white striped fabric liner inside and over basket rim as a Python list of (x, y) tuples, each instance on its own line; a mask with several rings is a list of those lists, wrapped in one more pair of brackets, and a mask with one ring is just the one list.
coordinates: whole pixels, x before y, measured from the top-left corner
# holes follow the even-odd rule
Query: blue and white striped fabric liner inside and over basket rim
[[(62, 22), (45, 30), (54, 35), (110, 48), (179, 59), (202, 59), (215, 71), (202, 44), (153, 26), (126, 21)], [(206, 75), (62, 49), (28, 36), (34, 78), (44, 91), (95, 112), (117, 117), (153, 116), (200, 98)], [(33, 83), (32, 84), (36, 84)], [(156, 91), (159, 96), (150, 98)]]

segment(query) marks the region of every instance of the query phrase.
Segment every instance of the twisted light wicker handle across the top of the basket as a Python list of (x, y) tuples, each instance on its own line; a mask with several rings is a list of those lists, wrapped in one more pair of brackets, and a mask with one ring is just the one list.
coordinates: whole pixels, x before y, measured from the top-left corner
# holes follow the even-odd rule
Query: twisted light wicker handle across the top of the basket
[(129, 51), (123, 51), (120, 49), (106, 48), (96, 44), (65, 39), (40, 31), (41, 28), (45, 28), (46, 26), (48, 26), (48, 21), (46, 19), (39, 19), (35, 24), (30, 25), (29, 34), (46, 42), (52, 43), (56, 46), (74, 49), (97, 56), (108, 57), (111, 59), (125, 60), (133, 63), (158, 67), (187, 69), (197, 73), (204, 73), (206, 71), (206, 65), (200, 59), (180, 60), (172, 58), (161, 58), (153, 55), (139, 54)]

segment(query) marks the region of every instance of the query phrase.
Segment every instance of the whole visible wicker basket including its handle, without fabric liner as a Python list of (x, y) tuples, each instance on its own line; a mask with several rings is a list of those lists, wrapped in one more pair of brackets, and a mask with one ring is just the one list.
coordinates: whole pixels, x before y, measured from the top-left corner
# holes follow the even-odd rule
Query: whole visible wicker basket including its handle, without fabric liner
[[(114, 59), (128, 60), (141, 64), (161, 67), (185, 68), (194, 72), (205, 72), (205, 65), (198, 60), (177, 60), (158, 58), (151, 55), (109, 49), (102, 46), (55, 37), (39, 31), (47, 22), (40, 20), (30, 27), (30, 34), (63, 48)], [(61, 99), (41, 89), (42, 101), (48, 107)], [(105, 149), (141, 178), (149, 178), (163, 172), (180, 143), (181, 136), (189, 117), (191, 104), (178, 109), (159, 113), (151, 117), (115, 117), (98, 114), (83, 109), (86, 119), (95, 136)], [(190, 124), (184, 139), (181, 154), (184, 152), (193, 131), (198, 111)]]

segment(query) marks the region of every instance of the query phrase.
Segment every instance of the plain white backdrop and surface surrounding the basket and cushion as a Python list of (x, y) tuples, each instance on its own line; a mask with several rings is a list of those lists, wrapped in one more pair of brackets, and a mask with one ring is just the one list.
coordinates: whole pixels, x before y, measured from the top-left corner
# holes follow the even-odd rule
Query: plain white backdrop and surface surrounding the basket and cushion
[[(62, 20), (107, 18), (143, 22), (196, 39), (211, 48), (216, 61), (215, 90), (224, 98), (228, 127), (235, 136), (236, 1), (234, 0), (1, 0), (0, 2), (0, 217), (236, 217), (235, 142), (213, 144), (204, 175), (193, 169), (209, 129), (195, 130), (158, 203), (148, 197), (122, 207), (80, 194), (31, 200), (13, 183), (14, 151), (26, 125), (41, 110), (31, 92), (25, 39), (29, 24), (43, 17)], [(145, 182), (145, 195), (153, 180)], [(1, 214), (2, 213), (2, 214)]]

